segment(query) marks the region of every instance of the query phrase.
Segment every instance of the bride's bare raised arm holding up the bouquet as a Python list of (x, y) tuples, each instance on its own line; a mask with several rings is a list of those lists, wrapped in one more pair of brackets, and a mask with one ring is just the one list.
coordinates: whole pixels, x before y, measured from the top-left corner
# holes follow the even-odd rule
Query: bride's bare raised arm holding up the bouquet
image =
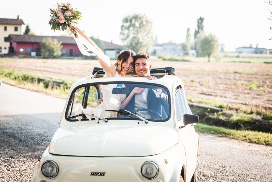
[(108, 56), (105, 56), (104, 52), (95, 44), (93, 40), (91, 40), (84, 32), (82, 32), (81, 29), (79, 29), (77, 26), (72, 26), (70, 28), (70, 32), (72, 32), (73, 34), (75, 34), (75, 31), (73, 29), (76, 29), (85, 40), (87, 40), (92, 46), (95, 47), (95, 49), (92, 49), (92, 52), (97, 55), (98, 61), (102, 68), (105, 70), (107, 76), (115, 76), (115, 66), (109, 62)]

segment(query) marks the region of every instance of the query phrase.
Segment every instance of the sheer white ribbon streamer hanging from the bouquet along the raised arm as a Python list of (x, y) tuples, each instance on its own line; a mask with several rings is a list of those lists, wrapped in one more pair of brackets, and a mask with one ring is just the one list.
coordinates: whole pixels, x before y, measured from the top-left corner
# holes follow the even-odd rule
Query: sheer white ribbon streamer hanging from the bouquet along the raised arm
[[(108, 66), (111, 66), (110, 58), (104, 54), (104, 52), (98, 50), (96, 46), (91, 45), (82, 35), (78, 34), (78, 38), (75, 38), (73, 35), (75, 42), (78, 45), (78, 49), (80, 50), (81, 54), (86, 56), (98, 56), (102, 59)], [(88, 51), (92, 51), (93, 53), (89, 53)]]

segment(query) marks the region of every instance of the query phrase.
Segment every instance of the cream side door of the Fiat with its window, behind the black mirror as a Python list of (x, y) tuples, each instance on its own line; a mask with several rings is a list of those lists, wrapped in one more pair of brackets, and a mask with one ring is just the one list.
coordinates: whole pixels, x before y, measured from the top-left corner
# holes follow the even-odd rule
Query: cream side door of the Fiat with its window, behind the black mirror
[(194, 174), (197, 162), (198, 137), (197, 133), (195, 133), (194, 126), (191, 124), (184, 126), (182, 120), (184, 114), (192, 113), (185, 99), (181, 85), (175, 88), (174, 104), (177, 120), (176, 125), (178, 126), (177, 130), (186, 153), (186, 176), (191, 177)]

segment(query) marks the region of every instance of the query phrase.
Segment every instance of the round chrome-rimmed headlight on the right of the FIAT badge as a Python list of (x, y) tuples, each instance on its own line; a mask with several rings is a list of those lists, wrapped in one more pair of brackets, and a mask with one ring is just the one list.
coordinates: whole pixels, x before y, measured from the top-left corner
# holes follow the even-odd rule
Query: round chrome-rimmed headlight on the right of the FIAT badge
[(146, 161), (141, 166), (141, 174), (148, 180), (154, 179), (158, 173), (159, 168), (154, 162)]

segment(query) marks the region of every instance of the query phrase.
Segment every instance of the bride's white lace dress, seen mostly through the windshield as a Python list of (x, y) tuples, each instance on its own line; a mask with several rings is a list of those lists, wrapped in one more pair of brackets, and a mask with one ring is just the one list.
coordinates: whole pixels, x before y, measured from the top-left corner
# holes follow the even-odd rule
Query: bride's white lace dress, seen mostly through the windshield
[[(120, 76), (116, 72), (115, 76)], [(105, 74), (104, 77), (107, 77)], [(117, 84), (101, 85), (100, 89), (103, 94), (103, 102), (96, 107), (96, 109), (102, 109), (101, 117), (116, 117), (118, 112), (109, 112), (105, 110), (119, 110), (121, 103), (126, 98), (126, 94), (112, 94), (112, 89), (116, 88)], [(124, 84), (122, 87), (125, 87)]]

